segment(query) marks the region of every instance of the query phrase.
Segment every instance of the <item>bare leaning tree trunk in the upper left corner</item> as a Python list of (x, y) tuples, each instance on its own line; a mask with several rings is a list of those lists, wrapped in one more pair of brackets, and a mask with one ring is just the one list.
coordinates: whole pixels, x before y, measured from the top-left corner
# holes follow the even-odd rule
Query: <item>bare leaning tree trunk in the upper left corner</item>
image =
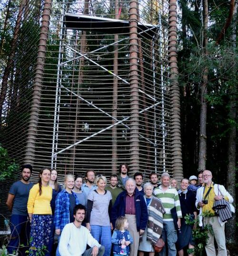
[(13, 33), (13, 39), (11, 42), (11, 50), (10, 50), (10, 55), (8, 58), (7, 66), (4, 70), (4, 74), (2, 77), (2, 85), (1, 85), (1, 93), (0, 93), (0, 126), (1, 126), (1, 118), (2, 118), (2, 110), (3, 110), (3, 103), (5, 101), (5, 97), (7, 94), (7, 88), (8, 88), (8, 79), (10, 75), (10, 71), (13, 65), (13, 58), (15, 56), (15, 51), (16, 51), (16, 45), (17, 45), (17, 40), (18, 40), (18, 35), (19, 35), (19, 30), (20, 30), (20, 22), (21, 22), (21, 17), (22, 13), (24, 10), (24, 6), (26, 4), (26, 0), (22, 0), (20, 3), (20, 8), (17, 16), (17, 21), (16, 21), (16, 26), (14, 29)]

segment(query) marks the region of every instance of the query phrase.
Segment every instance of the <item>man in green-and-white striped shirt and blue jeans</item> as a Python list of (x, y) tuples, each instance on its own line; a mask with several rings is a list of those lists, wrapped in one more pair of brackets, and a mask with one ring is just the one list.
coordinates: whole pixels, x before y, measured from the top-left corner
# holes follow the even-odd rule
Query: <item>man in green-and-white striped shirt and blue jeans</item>
[[(158, 197), (163, 207), (166, 211), (163, 215), (163, 231), (162, 237), (164, 241), (168, 243), (169, 248), (169, 256), (176, 256), (176, 246), (175, 243), (177, 242), (177, 231), (174, 226), (171, 209), (176, 207), (176, 212), (178, 216), (178, 228), (181, 226), (181, 208), (180, 208), (180, 201), (178, 197), (178, 192), (176, 189), (170, 187), (170, 176), (168, 172), (164, 172), (161, 175), (161, 185), (154, 190), (154, 195)], [(159, 256), (166, 256), (166, 246), (164, 246), (163, 250), (159, 253)]]

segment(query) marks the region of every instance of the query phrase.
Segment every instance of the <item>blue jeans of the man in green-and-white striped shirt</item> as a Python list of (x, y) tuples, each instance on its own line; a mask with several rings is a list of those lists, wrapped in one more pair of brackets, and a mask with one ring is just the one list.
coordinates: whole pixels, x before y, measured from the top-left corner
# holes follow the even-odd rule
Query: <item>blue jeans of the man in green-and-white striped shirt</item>
[[(177, 242), (178, 236), (173, 221), (163, 221), (162, 238), (164, 242), (168, 243), (169, 256), (176, 256), (177, 250), (175, 243)], [(166, 256), (166, 245), (163, 250), (159, 253), (159, 256)]]

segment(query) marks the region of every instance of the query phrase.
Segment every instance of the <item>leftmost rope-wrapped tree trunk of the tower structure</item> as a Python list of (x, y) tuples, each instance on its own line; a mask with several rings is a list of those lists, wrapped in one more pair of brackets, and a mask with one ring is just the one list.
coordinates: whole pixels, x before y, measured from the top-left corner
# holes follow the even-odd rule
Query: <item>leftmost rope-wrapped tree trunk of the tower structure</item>
[(43, 84), (44, 66), (47, 49), (47, 39), (50, 25), (50, 13), (52, 0), (45, 0), (42, 11), (42, 22), (40, 28), (40, 40), (38, 46), (38, 56), (36, 60), (35, 78), (33, 82), (32, 104), (30, 109), (30, 120), (27, 135), (27, 145), (25, 152), (25, 163), (33, 165), (35, 158), (35, 143), (37, 137), (37, 126), (40, 112), (41, 89)]

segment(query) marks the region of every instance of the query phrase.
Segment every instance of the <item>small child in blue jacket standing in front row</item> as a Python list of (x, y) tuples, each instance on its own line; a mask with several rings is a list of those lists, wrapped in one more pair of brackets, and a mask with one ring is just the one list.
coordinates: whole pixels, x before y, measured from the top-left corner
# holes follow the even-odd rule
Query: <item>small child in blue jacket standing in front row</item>
[(111, 237), (111, 243), (113, 244), (113, 255), (128, 256), (130, 252), (129, 245), (133, 243), (133, 239), (127, 230), (129, 222), (127, 217), (120, 216), (116, 220), (116, 228)]

